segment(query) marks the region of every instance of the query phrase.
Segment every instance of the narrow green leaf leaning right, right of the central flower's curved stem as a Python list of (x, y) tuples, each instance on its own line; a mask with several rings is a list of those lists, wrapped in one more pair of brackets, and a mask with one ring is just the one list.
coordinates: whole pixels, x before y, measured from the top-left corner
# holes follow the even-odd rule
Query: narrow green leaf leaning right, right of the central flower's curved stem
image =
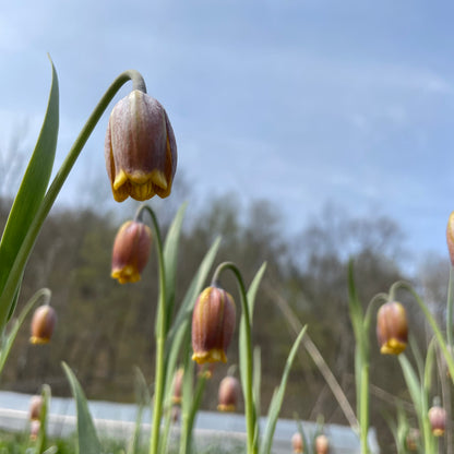
[(297, 355), (299, 345), (301, 344), (306, 330), (307, 330), (307, 325), (300, 331), (298, 337), (296, 338), (291, 347), (290, 353), (288, 354), (287, 362), (284, 368), (284, 373), (280, 380), (279, 387), (276, 390), (271, 401), (265, 433), (263, 435), (263, 441), (262, 441), (262, 445), (260, 450), (261, 454), (271, 453), (273, 437), (276, 430), (276, 423), (277, 423), (277, 418), (279, 416), (280, 407), (283, 405), (288, 375), (290, 373), (291, 365), (294, 363), (294, 359)]

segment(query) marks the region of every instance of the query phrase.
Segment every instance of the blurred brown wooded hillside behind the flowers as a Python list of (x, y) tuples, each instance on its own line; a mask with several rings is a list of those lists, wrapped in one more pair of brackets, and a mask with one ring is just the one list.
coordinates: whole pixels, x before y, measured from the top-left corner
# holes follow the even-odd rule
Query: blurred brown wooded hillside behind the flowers
[[(17, 167), (14, 171), (19, 171)], [(14, 180), (14, 175), (8, 177)], [(134, 366), (145, 377), (153, 377), (158, 291), (156, 256), (152, 251), (138, 284), (121, 286), (110, 278), (115, 235), (134, 211), (96, 210), (110, 196), (108, 191), (95, 190), (99, 180), (103, 188), (107, 186), (104, 176), (87, 178), (82, 186), (85, 190), (81, 190), (83, 203), (72, 208), (56, 207), (43, 228), (26, 268), (19, 306), (38, 288), (48, 287), (52, 291), (51, 304), (58, 312), (58, 325), (52, 342), (40, 347), (28, 344), (26, 326), (21, 331), (2, 375), (2, 390), (36, 393), (43, 383), (48, 383), (53, 395), (68, 396), (70, 390), (60, 366), (62, 360), (75, 371), (88, 398), (93, 399), (134, 402)], [(163, 231), (180, 203), (189, 199), (188, 188), (183, 176), (178, 176), (171, 201), (157, 203), (155, 208)], [(0, 225), (3, 226), (11, 199), (8, 189), (2, 188), (1, 192)], [(444, 323), (447, 258), (428, 256), (419, 270), (406, 270), (404, 259), (409, 252), (394, 219), (382, 215), (357, 218), (338, 206), (328, 205), (290, 236), (279, 207), (265, 200), (244, 206), (239, 195), (213, 195), (202, 206), (193, 208), (190, 204), (188, 212), (179, 251), (177, 304), (206, 250), (219, 235), (223, 242), (216, 263), (234, 261), (246, 283), (267, 262), (253, 322), (253, 342), (262, 354), (263, 411), (278, 384), (294, 340), (276, 303), (276, 295), (285, 299), (302, 324), (309, 325), (309, 335), (355, 408), (355, 345), (347, 309), (347, 265), (351, 255), (365, 306), (375, 294), (387, 291), (391, 284), (405, 278), (418, 283), (418, 290)], [(119, 213), (124, 217), (119, 218)], [(223, 285), (236, 298), (239, 310), (234, 282), (226, 276)], [(423, 351), (428, 333), (422, 315), (418, 310), (410, 310), (409, 319), (411, 333)], [(377, 345), (375, 333), (370, 335), (372, 345)], [(218, 366), (207, 384), (204, 409), (215, 410), (218, 383), (229, 366), (238, 362), (235, 338), (228, 358), (229, 363)], [(395, 414), (395, 398), (408, 399), (405, 390), (395, 358), (380, 356), (378, 348), (373, 348), (371, 422), (379, 432), (387, 430), (383, 416)], [(347, 423), (303, 348), (290, 374), (282, 416), (292, 418), (295, 413), (304, 420), (323, 415), (325, 422)]]

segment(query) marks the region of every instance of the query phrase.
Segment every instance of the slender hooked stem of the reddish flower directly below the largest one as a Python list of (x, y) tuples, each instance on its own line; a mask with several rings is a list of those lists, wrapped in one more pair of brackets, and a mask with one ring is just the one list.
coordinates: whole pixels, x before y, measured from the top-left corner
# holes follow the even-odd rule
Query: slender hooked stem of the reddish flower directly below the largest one
[(150, 435), (150, 454), (159, 452), (159, 429), (163, 417), (164, 387), (166, 377), (165, 345), (166, 345), (166, 272), (164, 264), (164, 248), (160, 237), (159, 225), (153, 210), (147, 205), (139, 207), (135, 218), (140, 218), (142, 211), (146, 210), (152, 218), (152, 225), (156, 237), (157, 259), (159, 267), (159, 301), (157, 307), (155, 339), (156, 339), (156, 363), (155, 363), (155, 394), (153, 403), (153, 421)]

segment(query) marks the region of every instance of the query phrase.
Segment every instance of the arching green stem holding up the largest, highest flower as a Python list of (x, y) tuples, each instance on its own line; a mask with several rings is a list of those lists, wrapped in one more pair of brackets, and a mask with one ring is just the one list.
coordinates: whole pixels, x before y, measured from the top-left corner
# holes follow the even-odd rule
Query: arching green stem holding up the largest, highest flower
[[(65, 157), (63, 164), (61, 165), (56, 177), (53, 178), (52, 183), (47, 190), (47, 193), (43, 199), (43, 202), (39, 205), (38, 211), (36, 212), (35, 218), (33, 219), (29, 226), (27, 235), (25, 236), (24, 241), (22, 242), (22, 246), (17, 252), (14, 264), (11, 267), (10, 276), (7, 280), (1, 296), (3, 300), (13, 300), (14, 294), (16, 291), (16, 283), (19, 282), (17, 278), (23, 273), (24, 266), (28, 260), (28, 256), (32, 252), (32, 249), (35, 244), (36, 238), (41, 229), (41, 226), (47, 215), (49, 214), (49, 211), (52, 207), (53, 202), (56, 201), (57, 195), (59, 194), (64, 181), (67, 180), (68, 175), (70, 174), (75, 160), (82, 152), (82, 148), (84, 147), (86, 141), (88, 140), (89, 135), (92, 134), (93, 130), (98, 123), (100, 117), (103, 116), (108, 105), (112, 100), (113, 96), (118, 93), (121, 86), (130, 80), (133, 82), (134, 89), (145, 89), (145, 83), (143, 81), (142, 75), (134, 70), (129, 70), (121, 73), (107, 88), (106, 93), (100, 98), (92, 115), (88, 117), (88, 120), (86, 121), (85, 126), (82, 128), (77, 139), (75, 140), (74, 144), (69, 151), (68, 156)], [(1, 309), (0, 312), (5, 310), (9, 310), (9, 308), (5, 308), (4, 310)], [(0, 325), (2, 325), (2, 322), (5, 319), (5, 316), (7, 313), (0, 313)]]

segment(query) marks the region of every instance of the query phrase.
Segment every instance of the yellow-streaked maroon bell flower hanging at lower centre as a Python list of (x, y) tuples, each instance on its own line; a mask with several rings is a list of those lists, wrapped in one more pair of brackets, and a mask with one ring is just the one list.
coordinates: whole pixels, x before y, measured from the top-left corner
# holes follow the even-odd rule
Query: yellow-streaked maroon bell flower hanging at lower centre
[(225, 350), (234, 335), (235, 320), (234, 298), (222, 288), (205, 288), (192, 313), (192, 359), (200, 365), (227, 362)]

